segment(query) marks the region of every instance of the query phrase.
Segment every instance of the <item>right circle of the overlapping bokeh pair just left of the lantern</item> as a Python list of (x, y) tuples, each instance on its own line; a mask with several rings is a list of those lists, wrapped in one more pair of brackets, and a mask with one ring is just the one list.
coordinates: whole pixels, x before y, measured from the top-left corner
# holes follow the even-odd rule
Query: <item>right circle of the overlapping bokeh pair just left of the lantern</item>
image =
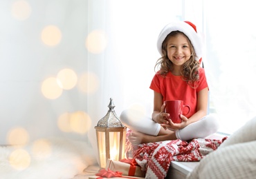
[(79, 134), (86, 133), (91, 127), (91, 118), (82, 111), (73, 112), (70, 118), (71, 129)]

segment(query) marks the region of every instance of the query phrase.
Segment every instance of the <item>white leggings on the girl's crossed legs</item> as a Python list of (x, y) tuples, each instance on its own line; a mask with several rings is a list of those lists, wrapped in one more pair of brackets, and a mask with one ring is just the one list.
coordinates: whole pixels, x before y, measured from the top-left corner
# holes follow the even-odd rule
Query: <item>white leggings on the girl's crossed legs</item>
[[(152, 118), (141, 114), (136, 110), (126, 110), (120, 115), (121, 122), (129, 129), (134, 131), (140, 131), (144, 134), (157, 136), (161, 125), (154, 122)], [(181, 140), (190, 140), (192, 138), (205, 138), (214, 134), (219, 128), (217, 116), (215, 114), (209, 114), (204, 116), (201, 120), (196, 121), (188, 125), (183, 129), (175, 131), (176, 138)]]

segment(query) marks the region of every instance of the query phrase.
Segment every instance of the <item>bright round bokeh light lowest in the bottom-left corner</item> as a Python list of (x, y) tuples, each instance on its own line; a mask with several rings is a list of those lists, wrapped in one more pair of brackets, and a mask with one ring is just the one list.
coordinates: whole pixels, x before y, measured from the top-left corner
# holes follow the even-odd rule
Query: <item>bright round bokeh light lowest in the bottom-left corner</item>
[(26, 169), (30, 165), (30, 160), (30, 155), (24, 149), (16, 149), (9, 156), (10, 165), (17, 170)]

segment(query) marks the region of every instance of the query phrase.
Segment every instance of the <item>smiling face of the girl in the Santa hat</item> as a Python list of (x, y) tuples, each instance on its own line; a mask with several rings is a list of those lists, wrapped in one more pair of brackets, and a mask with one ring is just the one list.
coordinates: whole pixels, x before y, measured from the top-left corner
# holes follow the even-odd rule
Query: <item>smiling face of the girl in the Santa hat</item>
[(170, 36), (167, 41), (167, 56), (175, 67), (181, 67), (186, 61), (190, 59), (191, 51), (188, 39), (183, 34)]

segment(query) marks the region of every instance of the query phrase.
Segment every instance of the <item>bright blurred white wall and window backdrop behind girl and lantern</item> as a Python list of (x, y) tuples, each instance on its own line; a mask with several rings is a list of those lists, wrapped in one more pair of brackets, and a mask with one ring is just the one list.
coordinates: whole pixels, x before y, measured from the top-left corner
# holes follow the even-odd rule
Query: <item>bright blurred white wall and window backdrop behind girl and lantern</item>
[[(116, 114), (149, 116), (156, 39), (192, 21), (205, 43), (209, 112), (232, 134), (255, 116), (256, 29), (251, 1), (1, 0), (0, 144), (82, 140), (113, 98)], [(238, 10), (239, 9), (239, 10)]]

